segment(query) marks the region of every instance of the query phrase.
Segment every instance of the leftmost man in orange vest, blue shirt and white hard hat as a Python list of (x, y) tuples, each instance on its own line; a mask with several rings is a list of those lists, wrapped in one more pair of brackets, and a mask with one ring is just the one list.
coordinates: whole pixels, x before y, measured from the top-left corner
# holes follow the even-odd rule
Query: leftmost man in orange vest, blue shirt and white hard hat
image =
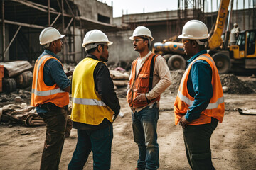
[(61, 39), (64, 36), (53, 27), (43, 29), (39, 36), (45, 50), (34, 66), (31, 106), (36, 106), (36, 112), (46, 123), (40, 169), (58, 169), (65, 140), (71, 84), (67, 76), (72, 72), (64, 72), (57, 55), (63, 46)]

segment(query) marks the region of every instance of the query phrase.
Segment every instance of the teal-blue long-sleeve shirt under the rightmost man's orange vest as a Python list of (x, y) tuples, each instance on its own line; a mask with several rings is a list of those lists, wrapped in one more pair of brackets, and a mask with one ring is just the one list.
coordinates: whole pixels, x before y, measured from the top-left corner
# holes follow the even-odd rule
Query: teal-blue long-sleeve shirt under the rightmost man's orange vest
[[(206, 50), (198, 52), (188, 60), (188, 65), (193, 62), (199, 55), (206, 54)], [(197, 60), (193, 63), (188, 75), (188, 94), (195, 98), (193, 105), (188, 107), (185, 118), (188, 122), (200, 117), (210, 103), (213, 96), (213, 86), (211, 84), (212, 70), (205, 60)]]

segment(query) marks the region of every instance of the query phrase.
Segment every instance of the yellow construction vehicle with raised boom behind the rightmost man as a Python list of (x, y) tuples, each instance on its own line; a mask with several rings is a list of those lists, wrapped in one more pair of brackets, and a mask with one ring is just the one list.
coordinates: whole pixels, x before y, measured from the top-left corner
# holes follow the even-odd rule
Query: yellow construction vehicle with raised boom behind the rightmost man
[[(232, 13), (233, 0), (231, 0), (231, 10), (228, 17), (227, 31), (223, 40), (223, 28), (228, 15), (230, 0), (221, 0), (218, 16), (213, 33), (210, 34), (207, 43), (207, 51), (213, 57), (219, 74), (230, 72), (231, 69), (256, 69), (256, 29), (244, 30), (239, 33), (235, 45), (228, 45), (229, 23)], [(172, 38), (175, 39), (175, 38)], [(183, 43), (174, 40), (164, 40), (153, 45), (153, 52), (162, 55), (169, 66), (169, 69), (185, 69), (186, 60), (189, 57), (183, 50)]]

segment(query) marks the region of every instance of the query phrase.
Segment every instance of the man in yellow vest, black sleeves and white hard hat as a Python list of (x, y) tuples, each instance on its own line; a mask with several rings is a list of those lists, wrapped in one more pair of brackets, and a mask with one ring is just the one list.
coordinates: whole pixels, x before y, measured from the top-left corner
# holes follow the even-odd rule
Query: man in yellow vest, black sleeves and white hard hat
[(91, 30), (86, 33), (82, 47), (87, 56), (74, 70), (72, 80), (73, 128), (78, 130), (78, 142), (68, 169), (83, 169), (92, 151), (93, 169), (110, 169), (113, 120), (120, 105), (114, 92), (107, 62), (108, 46), (105, 33)]

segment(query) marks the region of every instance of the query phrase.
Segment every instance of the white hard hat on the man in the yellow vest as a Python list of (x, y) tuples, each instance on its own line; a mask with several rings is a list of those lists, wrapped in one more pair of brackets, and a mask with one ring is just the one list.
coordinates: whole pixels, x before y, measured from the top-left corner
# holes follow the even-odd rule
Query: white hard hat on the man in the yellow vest
[(83, 39), (82, 47), (85, 47), (85, 50), (87, 51), (100, 44), (112, 45), (113, 42), (109, 41), (107, 35), (101, 30), (90, 30), (86, 33), (85, 38)]

